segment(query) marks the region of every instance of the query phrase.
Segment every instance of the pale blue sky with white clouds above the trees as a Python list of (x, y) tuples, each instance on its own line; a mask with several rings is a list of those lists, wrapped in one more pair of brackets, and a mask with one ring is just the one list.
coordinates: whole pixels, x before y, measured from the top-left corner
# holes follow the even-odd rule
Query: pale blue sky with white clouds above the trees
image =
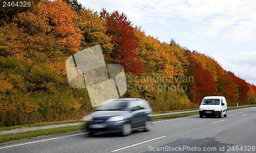
[(256, 85), (255, 0), (78, 0), (100, 12), (124, 13), (133, 26), (161, 42), (174, 39), (190, 51), (217, 60), (222, 68)]

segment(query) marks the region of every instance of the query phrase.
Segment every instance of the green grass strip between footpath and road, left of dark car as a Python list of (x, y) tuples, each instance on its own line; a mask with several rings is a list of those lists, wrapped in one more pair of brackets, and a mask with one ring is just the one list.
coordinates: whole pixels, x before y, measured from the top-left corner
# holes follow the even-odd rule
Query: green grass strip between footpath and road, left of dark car
[(50, 128), (50, 129), (43, 129), (43, 130), (35, 130), (35, 131), (29, 131), (26, 133), (0, 135), (0, 143), (11, 141), (11, 140), (32, 138), (32, 137), (36, 137), (36, 136), (66, 133), (66, 132), (70, 132), (70, 131), (74, 131), (74, 130), (80, 130), (82, 128), (83, 128), (83, 125), (75, 125), (75, 126), (66, 126), (66, 127)]

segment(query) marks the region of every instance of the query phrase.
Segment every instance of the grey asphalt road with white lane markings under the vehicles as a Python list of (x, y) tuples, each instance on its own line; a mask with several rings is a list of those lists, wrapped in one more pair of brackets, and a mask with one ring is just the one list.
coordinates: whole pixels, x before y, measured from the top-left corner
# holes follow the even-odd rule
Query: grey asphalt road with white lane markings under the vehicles
[(0, 146), (0, 152), (256, 152), (256, 107), (227, 113), (157, 121), (150, 132), (128, 137), (77, 133)]

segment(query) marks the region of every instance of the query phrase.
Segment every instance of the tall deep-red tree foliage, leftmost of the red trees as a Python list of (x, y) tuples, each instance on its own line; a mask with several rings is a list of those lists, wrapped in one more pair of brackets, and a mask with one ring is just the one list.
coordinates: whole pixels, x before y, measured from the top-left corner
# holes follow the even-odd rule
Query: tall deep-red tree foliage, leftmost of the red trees
[(123, 13), (114, 11), (109, 14), (105, 9), (100, 12), (100, 17), (106, 18), (106, 32), (112, 37), (114, 49), (110, 57), (114, 63), (121, 64), (125, 72), (143, 73), (143, 64), (135, 52), (138, 45), (131, 21)]

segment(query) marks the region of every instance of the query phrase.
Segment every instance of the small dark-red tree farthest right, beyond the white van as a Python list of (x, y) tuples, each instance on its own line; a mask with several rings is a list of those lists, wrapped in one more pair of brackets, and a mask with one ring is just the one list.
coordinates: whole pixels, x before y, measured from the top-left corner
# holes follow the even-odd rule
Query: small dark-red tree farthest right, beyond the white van
[(237, 77), (232, 72), (228, 72), (228, 75), (231, 76), (238, 85), (239, 101), (246, 102), (247, 93), (250, 90), (249, 85), (245, 82), (244, 79)]

